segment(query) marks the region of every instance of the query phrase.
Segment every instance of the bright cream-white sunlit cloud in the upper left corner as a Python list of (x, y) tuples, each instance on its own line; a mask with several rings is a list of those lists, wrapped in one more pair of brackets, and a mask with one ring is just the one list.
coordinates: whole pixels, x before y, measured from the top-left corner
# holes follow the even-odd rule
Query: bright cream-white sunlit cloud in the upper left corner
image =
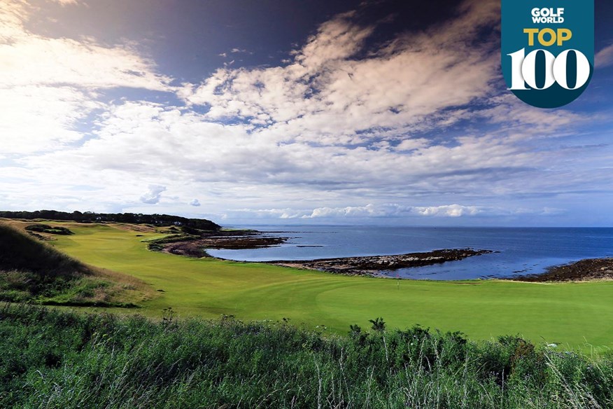
[[(62, 4), (74, 3), (61, 1)], [(171, 78), (131, 44), (102, 46), (93, 39), (41, 36), (26, 29), (33, 8), (8, 1), (0, 9), (0, 133), (3, 151), (31, 153), (83, 138), (76, 127), (102, 109), (99, 91), (171, 91)]]

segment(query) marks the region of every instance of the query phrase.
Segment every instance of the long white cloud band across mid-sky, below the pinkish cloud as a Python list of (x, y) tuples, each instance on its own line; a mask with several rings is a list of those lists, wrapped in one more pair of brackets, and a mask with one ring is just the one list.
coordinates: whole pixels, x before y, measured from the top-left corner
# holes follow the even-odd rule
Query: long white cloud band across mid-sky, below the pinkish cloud
[[(533, 165), (537, 155), (519, 153), (510, 141), (494, 137), (461, 137), (457, 144), (431, 146), (424, 139), (405, 139), (392, 148), (313, 146), (307, 141), (279, 144), (274, 132), (248, 132), (241, 125), (203, 120), (153, 103), (126, 102), (112, 107), (99, 124), (97, 137), (80, 148), (32, 158), (33, 166), (83, 165), (87, 172), (113, 169), (155, 180), (176, 176), (199, 182), (237, 180), (254, 185), (311, 186), (330, 190), (415, 184), (457, 186), (484, 169), (493, 179), (496, 168)], [(204, 148), (206, 146), (206, 148)], [(411, 148), (411, 151), (404, 149)], [(508, 156), (515, 154), (513, 165)], [(150, 163), (155, 163), (151, 167)], [(254, 165), (255, 164), (255, 165)], [(322, 165), (325, 164), (325, 165)], [(367, 172), (365, 172), (367, 169)], [(472, 169), (451, 179), (457, 169)], [(429, 186), (437, 189), (436, 186)]]

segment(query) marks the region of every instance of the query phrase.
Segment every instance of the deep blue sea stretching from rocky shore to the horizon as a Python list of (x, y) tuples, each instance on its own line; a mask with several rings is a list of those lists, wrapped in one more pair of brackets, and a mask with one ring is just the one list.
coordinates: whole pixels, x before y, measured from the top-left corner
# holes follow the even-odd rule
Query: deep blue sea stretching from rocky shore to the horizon
[[(246, 226), (241, 226), (246, 228)], [(208, 250), (235, 261), (297, 261), (382, 256), (436, 249), (484, 249), (491, 254), (417, 268), (382, 271), (407, 279), (491, 279), (533, 275), (583, 258), (613, 257), (613, 228), (457, 228), (376, 226), (248, 226), (289, 237), (276, 247)]]

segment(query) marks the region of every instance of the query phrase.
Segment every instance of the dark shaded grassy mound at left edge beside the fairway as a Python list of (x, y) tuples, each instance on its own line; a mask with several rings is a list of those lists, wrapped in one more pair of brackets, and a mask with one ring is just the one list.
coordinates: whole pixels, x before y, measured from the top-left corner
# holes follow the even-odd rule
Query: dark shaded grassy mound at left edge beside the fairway
[(87, 266), (25, 234), (14, 223), (0, 223), (0, 300), (134, 307), (135, 301), (152, 293), (134, 277)]

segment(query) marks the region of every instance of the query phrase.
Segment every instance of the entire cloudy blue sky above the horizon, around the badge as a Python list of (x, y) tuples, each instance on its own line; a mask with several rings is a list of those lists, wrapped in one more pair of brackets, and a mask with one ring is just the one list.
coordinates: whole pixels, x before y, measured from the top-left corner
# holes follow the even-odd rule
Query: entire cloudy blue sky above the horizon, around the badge
[(499, 0), (0, 0), (0, 209), (613, 226), (611, 27), (538, 109)]

